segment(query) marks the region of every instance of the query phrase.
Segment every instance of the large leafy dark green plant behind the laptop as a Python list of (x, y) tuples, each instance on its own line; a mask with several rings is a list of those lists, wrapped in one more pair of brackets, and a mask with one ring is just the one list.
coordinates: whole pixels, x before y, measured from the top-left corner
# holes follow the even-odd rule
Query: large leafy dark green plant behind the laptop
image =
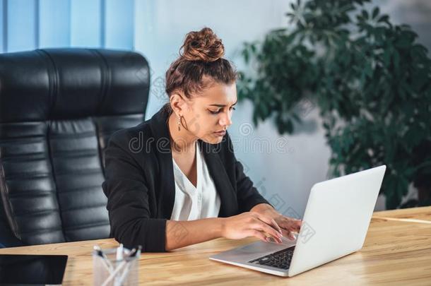
[[(408, 25), (393, 25), (367, 0), (291, 4), (290, 28), (245, 43), (240, 100), (253, 121), (274, 120), (278, 132), (301, 122), (297, 105), (313, 100), (331, 147), (331, 172), (386, 164), (386, 208), (397, 208), (413, 184), (430, 205), (431, 61)], [(401, 206), (403, 207), (403, 206)]]

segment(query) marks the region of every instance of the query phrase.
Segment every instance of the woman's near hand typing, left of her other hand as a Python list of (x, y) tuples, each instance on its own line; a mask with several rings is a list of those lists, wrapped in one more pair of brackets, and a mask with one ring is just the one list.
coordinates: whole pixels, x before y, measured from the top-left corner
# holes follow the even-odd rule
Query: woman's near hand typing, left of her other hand
[(260, 213), (241, 213), (222, 220), (222, 237), (228, 239), (243, 239), (245, 237), (257, 237), (264, 242), (270, 242), (273, 237), (281, 243), (281, 228), (273, 218)]

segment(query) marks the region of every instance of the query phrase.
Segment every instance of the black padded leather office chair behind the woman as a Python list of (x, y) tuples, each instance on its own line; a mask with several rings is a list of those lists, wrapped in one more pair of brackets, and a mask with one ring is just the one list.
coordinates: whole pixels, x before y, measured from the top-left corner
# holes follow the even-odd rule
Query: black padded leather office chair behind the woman
[(149, 82), (135, 52), (0, 54), (0, 244), (109, 237), (102, 151), (143, 121)]

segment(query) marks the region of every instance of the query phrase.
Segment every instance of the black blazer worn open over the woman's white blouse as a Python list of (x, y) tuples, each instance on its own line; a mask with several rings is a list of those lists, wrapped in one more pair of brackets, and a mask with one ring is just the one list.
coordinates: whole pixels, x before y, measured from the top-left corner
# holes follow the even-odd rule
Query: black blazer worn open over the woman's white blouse
[[(166, 220), (175, 201), (175, 179), (165, 109), (148, 121), (112, 134), (105, 150), (105, 181), (111, 236), (124, 246), (165, 251)], [(198, 141), (220, 196), (219, 217), (268, 203), (244, 174), (228, 133), (218, 144)]]

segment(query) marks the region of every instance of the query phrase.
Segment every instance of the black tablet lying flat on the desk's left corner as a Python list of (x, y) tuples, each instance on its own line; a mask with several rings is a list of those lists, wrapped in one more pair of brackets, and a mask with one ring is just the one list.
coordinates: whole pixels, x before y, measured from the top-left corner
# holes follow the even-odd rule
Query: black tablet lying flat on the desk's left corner
[(0, 254), (0, 285), (61, 285), (66, 255)]

